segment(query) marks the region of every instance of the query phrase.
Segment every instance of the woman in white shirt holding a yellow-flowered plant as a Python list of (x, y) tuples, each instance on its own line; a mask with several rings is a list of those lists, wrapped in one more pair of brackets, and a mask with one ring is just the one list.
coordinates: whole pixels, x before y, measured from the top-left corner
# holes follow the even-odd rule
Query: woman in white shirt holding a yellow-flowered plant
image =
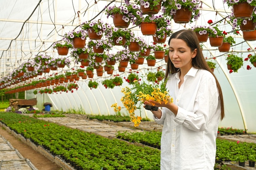
[(173, 103), (144, 102), (162, 107), (152, 111), (155, 121), (164, 125), (161, 170), (213, 170), (223, 97), (193, 31), (171, 36), (165, 78)]

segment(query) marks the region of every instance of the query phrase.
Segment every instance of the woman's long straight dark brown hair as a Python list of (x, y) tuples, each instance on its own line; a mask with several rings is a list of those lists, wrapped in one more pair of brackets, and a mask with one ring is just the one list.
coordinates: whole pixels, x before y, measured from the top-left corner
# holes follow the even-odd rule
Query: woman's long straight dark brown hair
[[(219, 84), (216, 76), (213, 74), (213, 71), (211, 71), (211, 68), (207, 65), (207, 62), (204, 59), (204, 55), (202, 53), (202, 49), (200, 48), (200, 44), (199, 44), (199, 41), (198, 41), (198, 38), (197, 38), (195, 32), (192, 30), (189, 30), (189, 29), (188, 30), (183, 29), (183, 30), (177, 31), (171, 35), (171, 38), (169, 39), (168, 44), (170, 44), (171, 39), (173, 39), (173, 38), (184, 40), (184, 42), (186, 42), (186, 44), (189, 46), (191, 51), (194, 51), (195, 49), (197, 49), (197, 54), (192, 59), (192, 66), (195, 68), (200, 68), (200, 69), (209, 71), (215, 78), (217, 88), (218, 88), (218, 91), (220, 94), (220, 106), (221, 106), (220, 119), (222, 120), (225, 116), (225, 113), (224, 113), (223, 95), (222, 95), (222, 91), (220, 88), (220, 84)], [(171, 62), (170, 58), (168, 57), (165, 78), (167, 79), (168, 75), (170, 75), (170, 74), (177, 73), (178, 70), (179, 70), (179, 68), (175, 68), (175, 66)]]

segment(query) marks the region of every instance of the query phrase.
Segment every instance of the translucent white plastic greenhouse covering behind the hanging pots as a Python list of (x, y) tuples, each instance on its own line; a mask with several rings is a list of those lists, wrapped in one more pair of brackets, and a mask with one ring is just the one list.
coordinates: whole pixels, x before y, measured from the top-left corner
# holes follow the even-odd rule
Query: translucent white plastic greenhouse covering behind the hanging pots
[[(52, 48), (52, 44), (62, 39), (62, 36), (75, 29), (79, 24), (89, 20), (104, 20), (112, 24), (112, 18), (106, 18), (104, 13), (105, 6), (110, 4), (117, 6), (120, 5), (120, 0), (0, 0), (0, 79), (8, 75), (13, 69), (17, 68), (22, 62), (34, 58), (40, 52), (50, 54), (53, 57), (57, 57), (58, 53)], [(133, 1), (130, 0), (132, 3)], [(232, 26), (226, 21), (226, 17), (231, 13), (231, 8), (227, 7), (227, 4), (222, 0), (201, 0), (202, 10), (200, 18), (191, 24), (176, 24), (172, 21), (173, 31), (180, 29), (189, 29), (195, 25), (208, 25), (208, 20), (213, 20), (213, 23), (218, 22), (218, 27), (226, 32), (232, 31)], [(221, 22), (222, 21), (222, 22)], [(139, 27), (129, 27), (136, 35), (143, 36), (148, 42), (153, 42), (152, 36), (144, 36), (141, 34)], [(240, 31), (239, 35), (234, 35), (236, 44), (231, 47), (230, 51), (238, 52), (239, 56), (246, 58), (249, 53), (254, 51), (247, 51), (247, 49), (254, 49), (256, 47), (256, 41), (245, 41), (243, 39), (243, 33)], [(168, 40), (166, 40), (168, 44)], [(202, 43), (204, 56), (207, 58), (216, 57), (214, 62), (217, 63), (217, 68), (214, 73), (220, 81), (222, 91), (225, 99), (226, 118), (221, 122), (222, 126), (236, 126), (236, 128), (247, 128), (249, 131), (256, 132), (256, 126), (254, 125), (255, 110), (256, 110), (256, 68), (249, 61), (244, 62), (242, 68), (238, 70), (238, 73), (229, 73), (227, 70), (227, 64), (225, 58), (227, 53), (220, 53), (218, 47), (211, 47), (209, 40)], [(119, 50), (119, 47), (114, 47), (112, 51)], [(76, 64), (74, 64), (75, 66)], [(247, 65), (252, 67), (247, 70)], [(157, 66), (165, 67), (165, 62), (160, 61)], [(150, 69), (155, 69), (150, 68)], [(67, 69), (67, 68), (65, 68)], [(146, 73), (147, 66), (144, 66), (139, 71), (141, 74)], [(58, 70), (61, 72), (63, 70)], [(118, 73), (115, 70), (115, 73)], [(51, 74), (51, 73), (49, 73)], [(124, 73), (123, 76), (127, 76), (128, 73)], [(49, 76), (44, 74), (43, 76)], [(101, 81), (109, 75), (104, 74), (103, 77), (94, 76), (94, 80)], [(100, 109), (93, 110), (97, 114), (99, 113), (109, 114), (112, 113), (112, 108), (109, 108), (111, 104), (109, 101), (119, 102), (121, 98), (121, 89), (115, 87), (112, 89), (105, 89), (100, 86), (99, 89), (90, 91), (88, 86), (88, 79), (79, 82), (83, 94), (70, 93), (61, 95), (65, 97), (65, 101), (69, 100), (70, 107), (65, 104), (65, 107), (61, 107), (63, 102), (60, 101), (58, 95), (49, 95), (49, 100), (55, 103), (55, 108), (59, 110), (68, 110), (74, 107), (74, 100), (77, 108), (90, 108), (87, 110), (92, 113), (93, 108), (96, 105), (102, 105), (106, 108), (104, 111)], [(124, 83), (123, 86), (127, 84)], [(95, 93), (100, 93), (105, 99), (99, 102), (99, 99), (95, 97)], [(104, 95), (105, 94), (105, 95)], [(107, 95), (106, 95), (107, 94)], [(85, 97), (87, 96), (87, 97)], [(90, 96), (90, 97), (89, 97)], [(28, 96), (29, 97), (29, 94)], [(31, 98), (34, 95), (31, 94)], [(37, 96), (38, 97), (38, 96)], [(109, 98), (112, 98), (108, 100)], [(80, 101), (80, 102), (79, 102)], [(66, 101), (67, 102), (67, 101)], [(81, 103), (79, 106), (78, 103)], [(99, 108), (101, 108), (99, 106)], [(101, 108), (102, 109), (102, 108)], [(147, 113), (150, 115), (150, 113)]]

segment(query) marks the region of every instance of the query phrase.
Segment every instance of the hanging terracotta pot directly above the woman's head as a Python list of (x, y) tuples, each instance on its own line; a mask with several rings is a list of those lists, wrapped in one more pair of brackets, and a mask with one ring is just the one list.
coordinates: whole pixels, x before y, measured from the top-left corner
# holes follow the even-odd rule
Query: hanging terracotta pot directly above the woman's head
[(173, 15), (173, 20), (178, 24), (185, 24), (191, 20), (192, 11), (189, 11), (188, 8), (178, 9), (176, 13)]

